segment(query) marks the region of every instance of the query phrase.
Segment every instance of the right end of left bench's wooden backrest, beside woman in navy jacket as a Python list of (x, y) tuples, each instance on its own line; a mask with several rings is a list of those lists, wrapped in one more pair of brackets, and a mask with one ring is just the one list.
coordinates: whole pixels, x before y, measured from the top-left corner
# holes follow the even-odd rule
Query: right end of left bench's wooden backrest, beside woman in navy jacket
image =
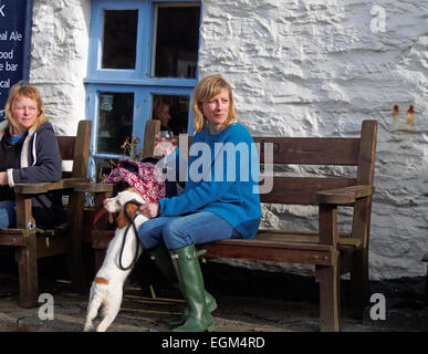
[(80, 121), (76, 136), (59, 136), (61, 158), (63, 162), (73, 162), (71, 171), (63, 171), (63, 178), (85, 178), (91, 144), (91, 121)]

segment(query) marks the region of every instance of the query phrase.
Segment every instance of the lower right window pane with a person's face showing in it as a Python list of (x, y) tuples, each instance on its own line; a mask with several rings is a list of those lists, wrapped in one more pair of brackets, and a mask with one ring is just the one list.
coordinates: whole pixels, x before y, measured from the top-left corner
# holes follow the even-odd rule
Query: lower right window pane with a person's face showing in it
[(160, 129), (178, 135), (187, 133), (189, 96), (153, 95), (152, 118), (160, 121)]

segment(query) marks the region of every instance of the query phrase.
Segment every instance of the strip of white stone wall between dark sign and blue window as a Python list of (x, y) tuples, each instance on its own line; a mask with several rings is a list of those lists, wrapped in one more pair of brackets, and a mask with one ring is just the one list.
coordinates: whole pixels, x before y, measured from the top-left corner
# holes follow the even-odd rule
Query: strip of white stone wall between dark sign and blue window
[(34, 0), (30, 82), (42, 94), (60, 135), (73, 135), (85, 117), (90, 0)]

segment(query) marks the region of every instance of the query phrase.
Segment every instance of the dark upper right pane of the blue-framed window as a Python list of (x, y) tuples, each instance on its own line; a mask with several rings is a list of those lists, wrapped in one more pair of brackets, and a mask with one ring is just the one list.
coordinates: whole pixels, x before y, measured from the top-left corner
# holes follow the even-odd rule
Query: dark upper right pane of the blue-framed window
[(158, 4), (156, 10), (152, 76), (195, 79), (199, 6)]

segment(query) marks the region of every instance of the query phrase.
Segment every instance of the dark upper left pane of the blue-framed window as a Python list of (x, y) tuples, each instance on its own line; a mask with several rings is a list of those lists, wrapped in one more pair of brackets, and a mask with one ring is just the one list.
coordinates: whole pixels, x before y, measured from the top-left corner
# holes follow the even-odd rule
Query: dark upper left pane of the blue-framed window
[(135, 69), (138, 10), (105, 10), (103, 69)]

